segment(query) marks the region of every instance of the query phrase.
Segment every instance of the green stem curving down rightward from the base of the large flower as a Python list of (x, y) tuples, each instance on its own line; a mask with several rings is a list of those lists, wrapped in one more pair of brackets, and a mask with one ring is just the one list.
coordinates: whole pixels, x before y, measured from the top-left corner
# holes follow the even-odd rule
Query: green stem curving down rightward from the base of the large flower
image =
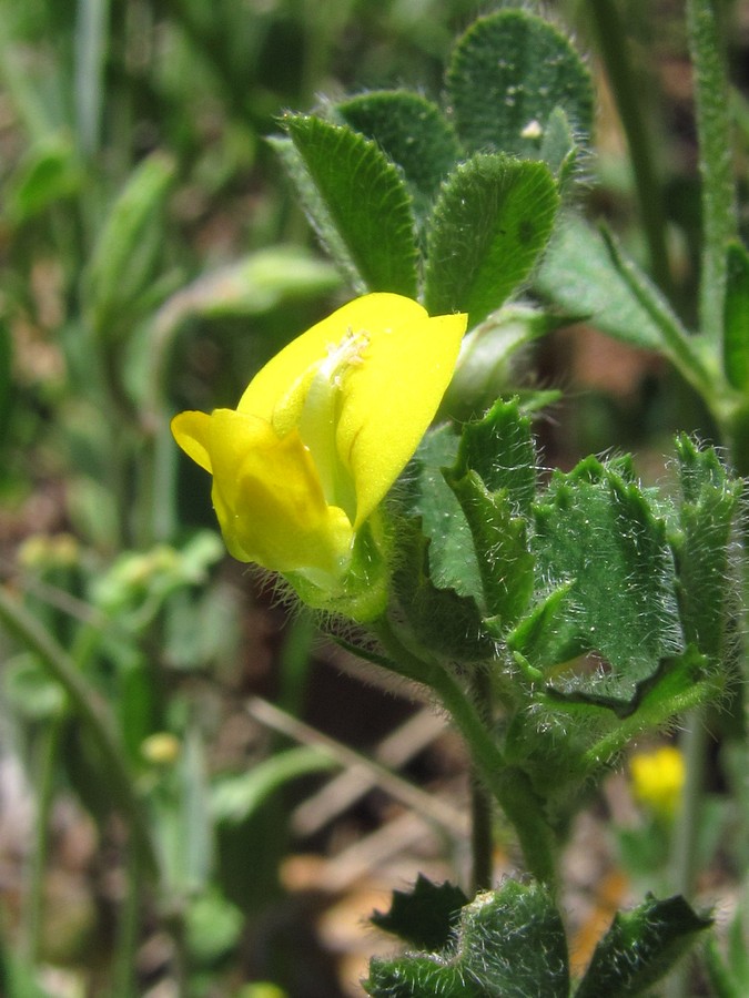
[(543, 803), (534, 792), (528, 776), (516, 766), (507, 764), (476, 707), (446, 666), (412, 652), (386, 619), (381, 618), (373, 625), (373, 630), (392, 659), (393, 671), (423, 683), (438, 696), (463, 735), (476, 772), (515, 828), (528, 872), (537, 879), (554, 886), (556, 883), (554, 835), (546, 821)]

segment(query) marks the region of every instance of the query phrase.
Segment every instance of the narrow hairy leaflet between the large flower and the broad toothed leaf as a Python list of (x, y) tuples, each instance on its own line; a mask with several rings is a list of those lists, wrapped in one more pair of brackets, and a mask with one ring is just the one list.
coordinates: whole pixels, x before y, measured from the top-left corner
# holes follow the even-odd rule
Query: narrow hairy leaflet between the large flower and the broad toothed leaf
[(534, 590), (527, 521), (515, 515), (507, 489), (489, 492), (476, 471), (445, 475), (473, 537), (482, 579), (479, 609), (507, 628), (526, 610)]

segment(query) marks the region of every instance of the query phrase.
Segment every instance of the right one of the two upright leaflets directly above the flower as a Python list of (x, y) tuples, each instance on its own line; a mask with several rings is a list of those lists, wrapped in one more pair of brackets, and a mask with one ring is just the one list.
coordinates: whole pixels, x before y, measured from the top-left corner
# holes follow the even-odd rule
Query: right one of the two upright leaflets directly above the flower
[(559, 205), (543, 163), (476, 155), (445, 182), (427, 231), (425, 304), (467, 312), (469, 328), (530, 273)]

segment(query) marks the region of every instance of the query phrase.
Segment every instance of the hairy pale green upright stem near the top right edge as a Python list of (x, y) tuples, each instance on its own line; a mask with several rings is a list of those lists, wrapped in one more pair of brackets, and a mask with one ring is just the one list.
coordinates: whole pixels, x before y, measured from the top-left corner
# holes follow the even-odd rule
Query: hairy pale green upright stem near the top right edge
[(702, 177), (700, 325), (716, 348), (723, 330), (726, 249), (737, 232), (731, 102), (718, 30), (718, 7), (717, 0), (687, 0)]

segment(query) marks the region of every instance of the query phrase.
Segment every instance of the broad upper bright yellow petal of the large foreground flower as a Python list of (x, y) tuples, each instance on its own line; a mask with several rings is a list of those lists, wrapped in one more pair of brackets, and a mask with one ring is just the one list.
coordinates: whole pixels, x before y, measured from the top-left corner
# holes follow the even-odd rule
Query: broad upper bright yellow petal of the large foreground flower
[(362, 363), (342, 378), (338, 458), (356, 492), (354, 529), (382, 501), (413, 456), (449, 384), (465, 315), (429, 317), (412, 298), (355, 298), (293, 340), (253, 378), (239, 411), (283, 436), (301, 418), (320, 364), (346, 335), (364, 334)]

